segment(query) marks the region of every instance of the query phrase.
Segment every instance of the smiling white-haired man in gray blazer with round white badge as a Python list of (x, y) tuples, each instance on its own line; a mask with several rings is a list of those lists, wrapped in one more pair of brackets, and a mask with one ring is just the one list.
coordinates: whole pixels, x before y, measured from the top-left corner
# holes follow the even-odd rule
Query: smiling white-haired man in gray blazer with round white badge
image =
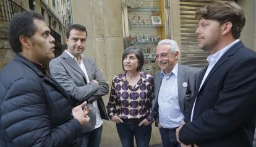
[(154, 75), (153, 112), (163, 146), (179, 146), (176, 128), (186, 115), (201, 70), (178, 64), (179, 46), (174, 40), (161, 40), (156, 48), (156, 62), (161, 71)]

